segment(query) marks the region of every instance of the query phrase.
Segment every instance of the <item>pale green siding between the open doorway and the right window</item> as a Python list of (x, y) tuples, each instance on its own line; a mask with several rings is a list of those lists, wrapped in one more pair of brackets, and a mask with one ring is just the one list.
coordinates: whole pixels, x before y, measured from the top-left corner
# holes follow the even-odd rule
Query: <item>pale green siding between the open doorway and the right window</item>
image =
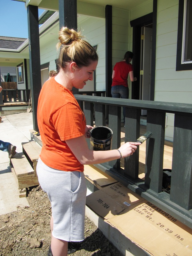
[[(178, 11), (178, 0), (157, 2), (155, 100), (191, 103), (192, 70), (176, 71)], [(165, 139), (172, 141), (174, 115), (166, 115)]]

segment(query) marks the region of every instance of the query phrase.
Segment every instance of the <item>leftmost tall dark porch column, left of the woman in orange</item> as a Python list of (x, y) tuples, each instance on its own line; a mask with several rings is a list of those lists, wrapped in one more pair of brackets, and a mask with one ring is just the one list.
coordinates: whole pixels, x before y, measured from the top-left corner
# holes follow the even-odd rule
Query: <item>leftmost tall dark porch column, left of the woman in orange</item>
[(33, 129), (37, 131), (37, 103), (39, 93), (41, 91), (38, 6), (28, 5), (27, 16), (29, 36), (29, 69), (33, 109)]

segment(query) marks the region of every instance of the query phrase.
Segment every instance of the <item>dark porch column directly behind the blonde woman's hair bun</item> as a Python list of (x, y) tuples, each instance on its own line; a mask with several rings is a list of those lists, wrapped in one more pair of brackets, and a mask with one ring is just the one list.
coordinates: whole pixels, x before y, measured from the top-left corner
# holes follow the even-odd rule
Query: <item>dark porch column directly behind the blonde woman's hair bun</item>
[[(59, 0), (59, 27), (77, 30), (77, 0)], [(79, 90), (73, 87), (73, 94)]]

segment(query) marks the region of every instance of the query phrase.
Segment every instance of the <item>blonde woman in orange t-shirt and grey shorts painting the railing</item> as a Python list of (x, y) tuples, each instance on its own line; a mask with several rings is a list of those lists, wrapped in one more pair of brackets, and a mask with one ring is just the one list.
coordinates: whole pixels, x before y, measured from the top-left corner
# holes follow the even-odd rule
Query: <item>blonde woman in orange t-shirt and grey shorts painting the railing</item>
[[(63, 27), (59, 32), (59, 73), (40, 92), (37, 109), (42, 139), (37, 175), (52, 205), (52, 240), (48, 256), (67, 256), (68, 247), (84, 240), (86, 184), (84, 164), (99, 164), (132, 155), (140, 143), (127, 142), (119, 149), (93, 151), (86, 138), (90, 129), (72, 94), (93, 79), (98, 55), (79, 32)], [(73, 244), (72, 244), (73, 245)]]

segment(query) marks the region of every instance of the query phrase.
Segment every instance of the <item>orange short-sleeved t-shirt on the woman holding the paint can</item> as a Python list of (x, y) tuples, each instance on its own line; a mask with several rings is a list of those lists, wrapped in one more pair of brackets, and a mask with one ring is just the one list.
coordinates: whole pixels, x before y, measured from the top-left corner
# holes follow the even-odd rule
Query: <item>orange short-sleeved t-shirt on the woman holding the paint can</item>
[(54, 77), (40, 92), (37, 122), (42, 139), (41, 160), (61, 171), (84, 171), (65, 140), (84, 135), (86, 120), (73, 94)]

